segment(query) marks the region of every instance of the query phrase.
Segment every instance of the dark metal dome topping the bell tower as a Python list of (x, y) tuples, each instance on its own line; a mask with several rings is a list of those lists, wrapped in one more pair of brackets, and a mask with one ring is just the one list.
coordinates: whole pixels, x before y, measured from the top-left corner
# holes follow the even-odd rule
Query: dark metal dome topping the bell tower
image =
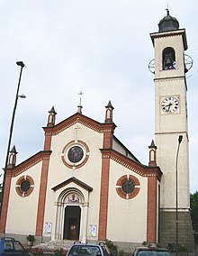
[(166, 16), (158, 23), (158, 32), (168, 32), (179, 29), (179, 23), (176, 18), (169, 15), (168, 9), (166, 9), (166, 11)]

